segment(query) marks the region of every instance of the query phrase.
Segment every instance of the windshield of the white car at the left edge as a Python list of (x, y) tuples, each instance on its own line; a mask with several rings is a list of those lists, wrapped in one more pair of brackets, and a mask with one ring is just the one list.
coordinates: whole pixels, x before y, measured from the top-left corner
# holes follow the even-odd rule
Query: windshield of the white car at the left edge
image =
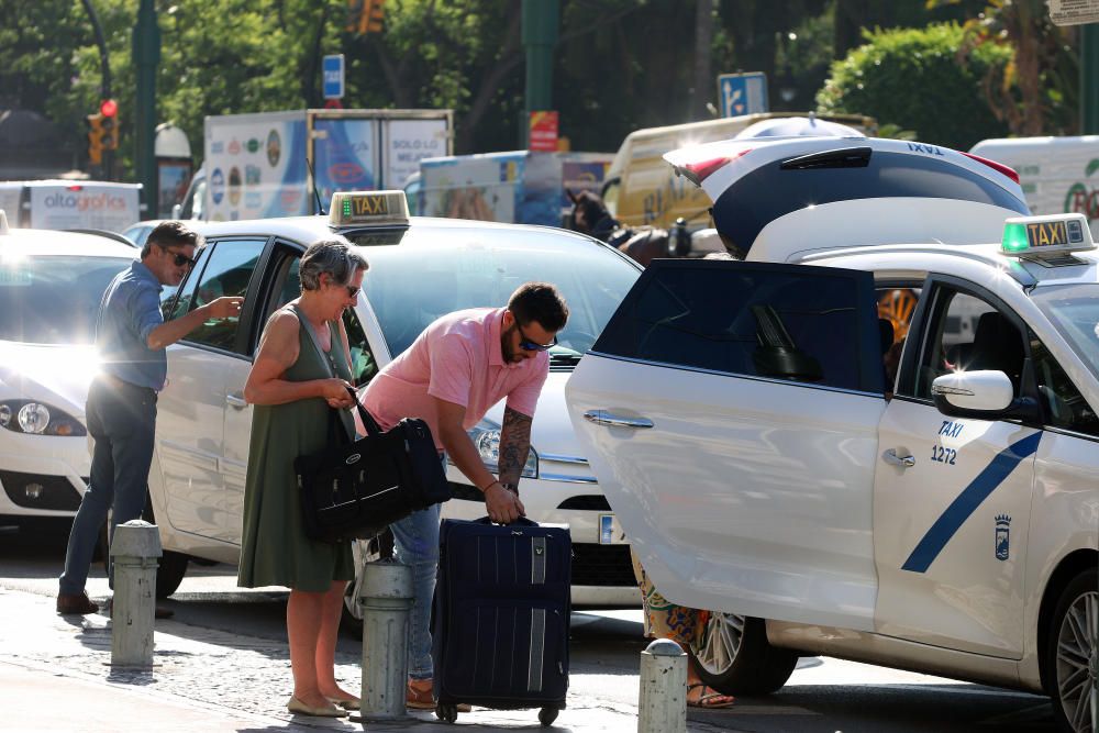
[(0, 340), (91, 344), (103, 291), (123, 257), (0, 258)]

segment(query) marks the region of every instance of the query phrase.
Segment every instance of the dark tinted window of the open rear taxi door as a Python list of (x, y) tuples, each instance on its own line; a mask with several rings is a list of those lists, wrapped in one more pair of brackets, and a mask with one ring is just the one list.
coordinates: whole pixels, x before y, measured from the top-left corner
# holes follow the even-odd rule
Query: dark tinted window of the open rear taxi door
[(839, 268), (654, 260), (593, 351), (881, 392), (873, 287)]

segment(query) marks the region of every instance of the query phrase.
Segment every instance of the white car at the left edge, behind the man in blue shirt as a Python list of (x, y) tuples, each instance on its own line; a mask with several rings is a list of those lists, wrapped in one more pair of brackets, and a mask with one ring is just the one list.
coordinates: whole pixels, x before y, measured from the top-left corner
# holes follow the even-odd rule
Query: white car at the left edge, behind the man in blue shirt
[(66, 521), (88, 482), (96, 313), (134, 259), (102, 236), (0, 218), (0, 522)]

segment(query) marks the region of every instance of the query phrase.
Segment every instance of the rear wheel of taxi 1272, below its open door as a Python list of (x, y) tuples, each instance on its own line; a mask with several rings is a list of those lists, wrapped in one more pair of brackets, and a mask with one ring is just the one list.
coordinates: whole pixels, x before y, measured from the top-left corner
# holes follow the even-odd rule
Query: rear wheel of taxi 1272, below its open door
[(798, 655), (770, 645), (763, 619), (708, 611), (688, 649), (699, 678), (725, 695), (769, 695), (793, 674)]

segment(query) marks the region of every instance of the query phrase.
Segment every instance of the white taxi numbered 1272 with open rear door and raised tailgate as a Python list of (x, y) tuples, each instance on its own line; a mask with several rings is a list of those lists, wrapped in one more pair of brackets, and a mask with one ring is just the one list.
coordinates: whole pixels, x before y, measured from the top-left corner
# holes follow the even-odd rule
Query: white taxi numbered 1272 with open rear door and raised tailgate
[[(1019, 216), (1002, 167), (954, 152), (777, 145), (801, 147), (667, 156), (746, 259), (654, 262), (567, 389), (657, 589), (712, 611), (703, 680), (765, 693), (833, 655), (1045, 691), (1065, 730), (1095, 730), (1087, 223)], [(913, 193), (951, 157), (974, 174), (958, 196)]]

